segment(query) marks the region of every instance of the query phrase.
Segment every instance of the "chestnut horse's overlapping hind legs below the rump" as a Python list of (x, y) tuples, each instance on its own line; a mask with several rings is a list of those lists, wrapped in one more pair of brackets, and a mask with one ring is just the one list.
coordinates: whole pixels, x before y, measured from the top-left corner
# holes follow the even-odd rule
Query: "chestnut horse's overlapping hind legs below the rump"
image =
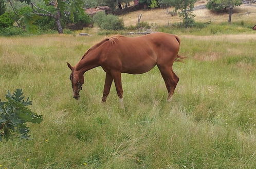
[(168, 91), (168, 98), (167, 101), (171, 101), (172, 95), (174, 93), (174, 90), (177, 86), (177, 83), (179, 81), (178, 76), (173, 72), (172, 67), (161, 67), (158, 66), (162, 78), (164, 80), (164, 82), (166, 83), (166, 88)]

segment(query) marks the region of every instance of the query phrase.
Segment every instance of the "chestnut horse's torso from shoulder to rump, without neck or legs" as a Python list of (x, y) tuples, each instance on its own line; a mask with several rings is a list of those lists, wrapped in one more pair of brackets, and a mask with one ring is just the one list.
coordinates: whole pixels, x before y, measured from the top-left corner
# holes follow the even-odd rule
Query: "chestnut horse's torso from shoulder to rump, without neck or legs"
[(106, 65), (113, 65), (123, 73), (141, 74), (161, 63), (172, 66), (179, 43), (175, 35), (152, 33), (140, 37), (120, 36), (104, 49)]

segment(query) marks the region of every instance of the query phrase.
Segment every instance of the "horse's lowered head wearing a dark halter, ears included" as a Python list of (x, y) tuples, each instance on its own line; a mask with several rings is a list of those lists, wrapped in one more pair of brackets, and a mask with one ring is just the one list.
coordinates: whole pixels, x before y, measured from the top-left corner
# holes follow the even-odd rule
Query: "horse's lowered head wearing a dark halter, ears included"
[(79, 74), (78, 71), (74, 69), (68, 62), (67, 62), (68, 68), (71, 70), (71, 74), (69, 76), (69, 79), (71, 80), (71, 86), (73, 89), (73, 98), (79, 99), (80, 95), (79, 92), (82, 90), (82, 86), (84, 83), (84, 76), (83, 74)]

